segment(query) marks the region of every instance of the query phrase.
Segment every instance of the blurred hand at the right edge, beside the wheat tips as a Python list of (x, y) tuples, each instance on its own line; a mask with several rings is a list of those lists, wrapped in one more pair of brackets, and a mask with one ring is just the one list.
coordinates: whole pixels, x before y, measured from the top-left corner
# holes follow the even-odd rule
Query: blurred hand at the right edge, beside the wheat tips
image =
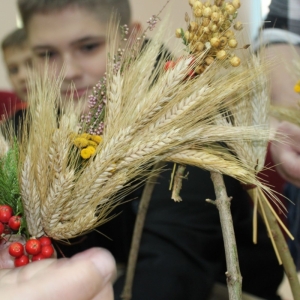
[(288, 138), (285, 143), (272, 142), (271, 155), (278, 173), (288, 182), (300, 187), (300, 127), (282, 122), (277, 132)]

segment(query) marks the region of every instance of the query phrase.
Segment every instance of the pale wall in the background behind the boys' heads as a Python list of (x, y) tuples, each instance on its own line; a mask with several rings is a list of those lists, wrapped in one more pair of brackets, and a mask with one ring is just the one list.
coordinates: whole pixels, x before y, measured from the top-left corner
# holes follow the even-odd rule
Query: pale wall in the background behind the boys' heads
[[(138, 20), (144, 27), (147, 26), (147, 20), (154, 14), (157, 14), (164, 6), (167, 0), (130, 0), (133, 10), (133, 19)], [(248, 24), (249, 35), (253, 37), (257, 28), (257, 22), (260, 20), (261, 0), (241, 0), (242, 6), (239, 13), (239, 19)], [(266, 0), (262, 0), (266, 1)], [(170, 32), (173, 34), (177, 27), (184, 27), (184, 14), (190, 14), (188, 0), (171, 0), (167, 8), (161, 14), (164, 15), (171, 11)], [(0, 0), (0, 40), (16, 27), (16, 0)], [(251, 20), (251, 21), (250, 21)], [(9, 89), (9, 83), (6, 79), (5, 70), (0, 60), (0, 89)]]

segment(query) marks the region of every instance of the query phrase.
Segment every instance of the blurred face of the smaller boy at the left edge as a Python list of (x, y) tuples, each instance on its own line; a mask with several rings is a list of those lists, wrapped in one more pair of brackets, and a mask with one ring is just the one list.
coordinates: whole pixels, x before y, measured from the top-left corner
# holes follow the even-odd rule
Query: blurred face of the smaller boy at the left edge
[(11, 46), (3, 50), (3, 58), (7, 67), (10, 83), (17, 96), (26, 101), (27, 87), (26, 80), (28, 70), (32, 64), (32, 53), (30, 48), (23, 46)]

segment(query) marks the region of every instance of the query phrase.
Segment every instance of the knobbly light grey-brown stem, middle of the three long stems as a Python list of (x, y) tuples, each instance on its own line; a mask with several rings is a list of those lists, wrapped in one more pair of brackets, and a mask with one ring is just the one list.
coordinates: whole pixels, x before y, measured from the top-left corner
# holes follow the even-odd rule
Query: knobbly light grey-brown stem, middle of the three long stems
[(227, 287), (230, 300), (242, 299), (242, 275), (240, 273), (237, 246), (235, 241), (232, 216), (230, 211), (230, 200), (227, 196), (223, 175), (217, 172), (211, 172), (211, 179), (214, 184), (216, 204), (222, 226), (224, 238), (226, 265), (227, 265)]

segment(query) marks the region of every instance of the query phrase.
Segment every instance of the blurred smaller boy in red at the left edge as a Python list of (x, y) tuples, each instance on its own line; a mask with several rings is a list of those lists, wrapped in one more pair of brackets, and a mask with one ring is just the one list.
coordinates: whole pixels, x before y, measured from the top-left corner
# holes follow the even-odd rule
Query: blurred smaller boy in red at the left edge
[(15, 29), (1, 43), (2, 56), (14, 93), (1, 91), (0, 115), (12, 117), (27, 104), (28, 69), (32, 65), (31, 50), (24, 29)]

